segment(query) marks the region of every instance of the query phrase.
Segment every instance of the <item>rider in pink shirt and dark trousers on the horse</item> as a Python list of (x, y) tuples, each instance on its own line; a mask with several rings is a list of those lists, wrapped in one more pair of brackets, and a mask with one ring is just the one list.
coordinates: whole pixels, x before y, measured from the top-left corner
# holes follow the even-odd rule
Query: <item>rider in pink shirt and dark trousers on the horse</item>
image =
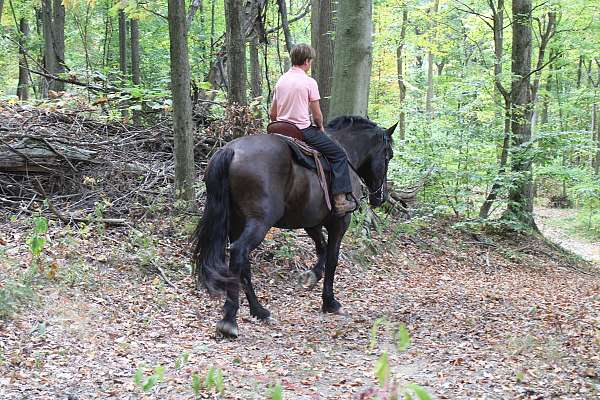
[[(329, 160), (333, 173), (331, 191), (335, 212), (343, 216), (353, 211), (356, 204), (353, 200), (349, 201), (347, 196), (352, 193), (352, 184), (346, 153), (325, 133), (317, 81), (307, 75), (315, 58), (315, 50), (307, 44), (297, 44), (292, 48), (290, 58), (292, 68), (275, 85), (269, 117), (271, 121), (286, 121), (296, 125), (302, 131), (304, 141)], [(309, 111), (314, 125), (311, 124)]]

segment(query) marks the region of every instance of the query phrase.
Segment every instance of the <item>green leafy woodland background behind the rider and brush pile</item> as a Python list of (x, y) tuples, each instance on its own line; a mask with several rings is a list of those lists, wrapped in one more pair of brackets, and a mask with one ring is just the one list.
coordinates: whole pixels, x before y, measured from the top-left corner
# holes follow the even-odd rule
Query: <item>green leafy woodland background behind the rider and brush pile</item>
[[(4, 99), (17, 96), (64, 108), (83, 102), (95, 107), (99, 118), (142, 124), (171, 110), (167, 4), (0, 4)], [(232, 49), (226, 4), (194, 0), (185, 5), (197, 133), (204, 129), (202, 121), (228, 117), (220, 106), (227, 99), (248, 104), (266, 122), (274, 82), (289, 67), (289, 47), (299, 42), (312, 42), (318, 50), (313, 75), (327, 115), (329, 100), (331, 107), (336, 102), (330, 96), (331, 78), (324, 76), (334, 68), (339, 5), (315, 0), (237, 4), (243, 27), (239, 34), (247, 48), (242, 49), (244, 75), (236, 69), (244, 63), (227, 63)], [(511, 73), (513, 21), (511, 2), (503, 0), (374, 1), (372, 67), (356, 79), (370, 83), (363, 114), (382, 126), (401, 121), (392, 181), (410, 185), (434, 167), (421, 193), (430, 212), (478, 221), (506, 215), (515, 201), (511, 192), (528, 180), (532, 194), (542, 201), (577, 205), (578, 217), (569, 223), (598, 237), (600, 5), (592, 0), (538, 1), (532, 10), (526, 76), (532, 92), (530, 138), (520, 140), (510, 127), (511, 118), (515, 120), (509, 104), (516, 79)], [(52, 40), (58, 43), (62, 37), (64, 48), (56, 50)], [(48, 57), (48, 46), (55, 46), (58, 57)], [(241, 83), (244, 98), (232, 99), (232, 90)], [(75, 95), (64, 96), (63, 91)], [(45, 102), (48, 97), (53, 100)], [(533, 164), (533, 172), (520, 169), (519, 163)], [(530, 221), (509, 223), (520, 227)]]

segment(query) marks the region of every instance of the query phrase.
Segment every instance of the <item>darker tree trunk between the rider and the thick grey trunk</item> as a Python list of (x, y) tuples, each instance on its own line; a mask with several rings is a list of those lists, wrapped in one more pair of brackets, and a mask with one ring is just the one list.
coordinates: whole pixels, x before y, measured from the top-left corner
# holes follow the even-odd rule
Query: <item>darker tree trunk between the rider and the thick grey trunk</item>
[(311, 8), (311, 42), (317, 53), (311, 75), (319, 84), (323, 121), (327, 123), (333, 77), (334, 7), (331, 0), (313, 0)]

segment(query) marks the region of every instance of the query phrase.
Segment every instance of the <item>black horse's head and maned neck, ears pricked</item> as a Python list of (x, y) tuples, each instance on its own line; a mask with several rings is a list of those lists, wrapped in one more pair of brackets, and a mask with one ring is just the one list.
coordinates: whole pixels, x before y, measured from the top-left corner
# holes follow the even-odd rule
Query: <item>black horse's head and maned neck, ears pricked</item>
[[(328, 125), (328, 130), (345, 131), (342, 135), (356, 133), (356, 140), (344, 140), (344, 148), (358, 157), (354, 167), (369, 189), (369, 204), (373, 207), (381, 206), (388, 198), (387, 171), (394, 156), (392, 134), (397, 125), (383, 129), (362, 117), (338, 117)], [(336, 138), (343, 140), (342, 135)]]

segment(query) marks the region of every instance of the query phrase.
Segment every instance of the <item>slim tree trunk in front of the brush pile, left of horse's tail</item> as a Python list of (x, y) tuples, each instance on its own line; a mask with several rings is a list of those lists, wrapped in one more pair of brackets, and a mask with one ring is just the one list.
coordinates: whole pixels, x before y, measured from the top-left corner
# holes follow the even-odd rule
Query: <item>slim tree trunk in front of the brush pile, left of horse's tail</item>
[(190, 97), (190, 62), (184, 0), (168, 1), (173, 134), (175, 139), (175, 189), (179, 199), (194, 199), (194, 127)]

